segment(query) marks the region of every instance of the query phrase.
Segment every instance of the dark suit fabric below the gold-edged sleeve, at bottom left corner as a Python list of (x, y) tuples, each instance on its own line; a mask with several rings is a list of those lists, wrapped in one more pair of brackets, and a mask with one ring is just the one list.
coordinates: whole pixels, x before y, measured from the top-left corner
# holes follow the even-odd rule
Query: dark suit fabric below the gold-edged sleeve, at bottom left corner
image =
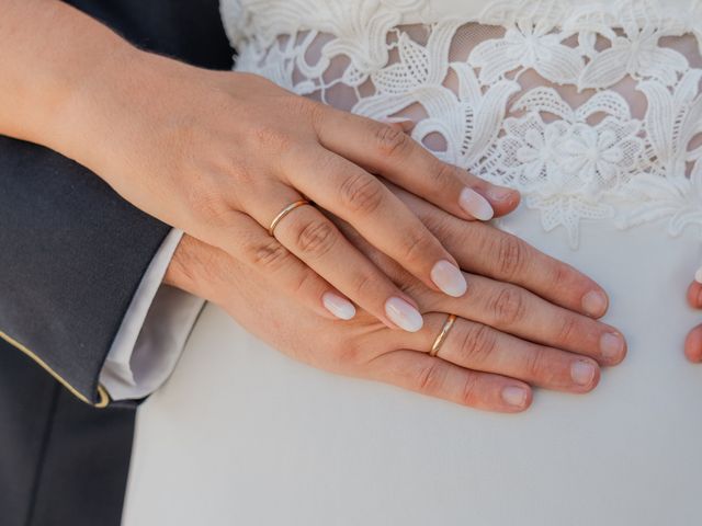
[(0, 524), (118, 526), (135, 412), (78, 401), (0, 343)]

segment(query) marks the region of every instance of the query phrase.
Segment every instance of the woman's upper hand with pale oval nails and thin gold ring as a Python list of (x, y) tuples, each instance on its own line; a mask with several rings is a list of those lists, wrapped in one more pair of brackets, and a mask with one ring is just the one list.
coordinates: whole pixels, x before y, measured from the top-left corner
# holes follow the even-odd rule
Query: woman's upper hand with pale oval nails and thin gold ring
[[(489, 219), (519, 201), (439, 161), (396, 126), (258, 76), (134, 49), (91, 79), (61, 113), (55, 148), (137, 207), (265, 273), (327, 317), (352, 318), (349, 298), (389, 327), (422, 325), (414, 299), (325, 213), (348, 221), (430, 289), (465, 293), (452, 254), (374, 174), (465, 219)], [(305, 198), (316, 206), (293, 209), (271, 236), (276, 215)]]

